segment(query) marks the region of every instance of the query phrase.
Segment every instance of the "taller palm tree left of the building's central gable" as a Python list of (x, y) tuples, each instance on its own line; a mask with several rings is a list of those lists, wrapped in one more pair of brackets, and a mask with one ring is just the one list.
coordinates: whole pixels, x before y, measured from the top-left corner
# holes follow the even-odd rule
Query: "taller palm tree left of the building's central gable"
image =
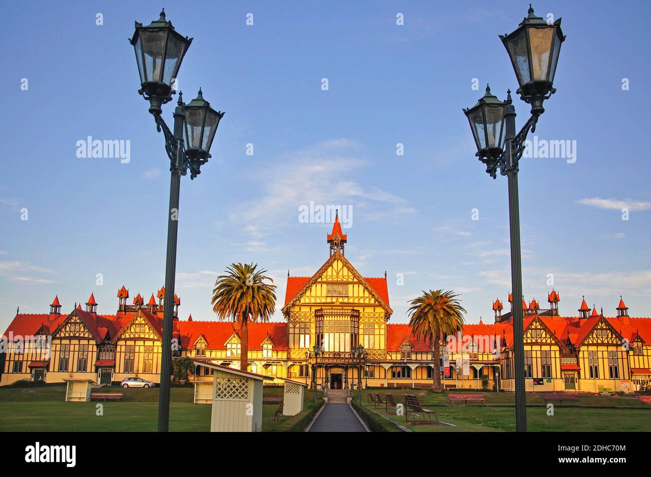
[[(219, 275), (212, 290), (212, 310), (219, 321), (235, 321), (240, 328), (240, 369), (249, 365), (249, 321), (269, 321), (276, 306), (275, 285), (258, 264), (232, 264)], [(271, 283), (266, 283), (269, 280)]]

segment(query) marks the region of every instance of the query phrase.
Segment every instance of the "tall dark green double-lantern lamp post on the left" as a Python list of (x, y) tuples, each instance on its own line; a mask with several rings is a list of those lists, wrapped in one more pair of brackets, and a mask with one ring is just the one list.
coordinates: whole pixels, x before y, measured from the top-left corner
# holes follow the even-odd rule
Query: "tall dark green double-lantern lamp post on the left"
[[(176, 79), (192, 38), (177, 33), (165, 10), (160, 18), (143, 27), (135, 22), (135, 33), (130, 40), (140, 74), (138, 91), (148, 100), (149, 112), (154, 115), (156, 129), (165, 135), (165, 150), (170, 159), (171, 183), (167, 223), (167, 258), (165, 260), (165, 302), (163, 303), (163, 341), (161, 343), (160, 398), (158, 401), (158, 431), (169, 429), (169, 390), (172, 375), (172, 329), (174, 307), (174, 278), (176, 275), (176, 237), (178, 233), (178, 198), (181, 176), (190, 170), (190, 178), (201, 173), (201, 165), (208, 162), (215, 130), (224, 113), (217, 112), (199, 96), (188, 105), (179, 92), (174, 109), (174, 132), (163, 120), (161, 106), (172, 100), (173, 81)], [(186, 148), (187, 144), (187, 148)]]

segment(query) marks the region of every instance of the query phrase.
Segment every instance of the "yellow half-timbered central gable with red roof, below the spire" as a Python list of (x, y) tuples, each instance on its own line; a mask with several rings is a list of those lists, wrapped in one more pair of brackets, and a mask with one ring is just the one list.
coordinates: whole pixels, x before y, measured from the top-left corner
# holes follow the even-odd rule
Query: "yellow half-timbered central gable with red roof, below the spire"
[[(293, 305), (328, 304), (376, 306), (383, 308), (387, 315), (393, 313), (388, 303), (386, 279), (369, 279), (377, 280), (370, 284), (339, 251), (333, 253), (312, 277), (296, 278), (301, 280), (287, 279), (285, 315)], [(383, 286), (380, 280), (384, 282)]]

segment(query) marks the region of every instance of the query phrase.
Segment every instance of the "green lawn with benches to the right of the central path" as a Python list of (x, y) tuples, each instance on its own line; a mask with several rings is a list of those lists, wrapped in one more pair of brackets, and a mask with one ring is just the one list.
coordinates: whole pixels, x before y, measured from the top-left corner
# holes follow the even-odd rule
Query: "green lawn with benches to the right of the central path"
[[(380, 390), (383, 397), (385, 390)], [(452, 426), (415, 426), (406, 424), (404, 416), (387, 415), (381, 405), (367, 405), (365, 391), (362, 403), (372, 411), (381, 413), (393, 422), (416, 432), (455, 431), (514, 431), (514, 395), (512, 393), (486, 392), (486, 405), (449, 405), (447, 392), (436, 394), (430, 390), (393, 390), (396, 402), (404, 402), (403, 394), (417, 394), (419, 401), (428, 409), (437, 412), (439, 420)], [(452, 391), (454, 394), (455, 391)], [(356, 393), (355, 393), (356, 394)], [(527, 428), (529, 431), (649, 431), (651, 430), (651, 408), (636, 398), (611, 398), (579, 395), (578, 405), (554, 406), (554, 415), (547, 415), (547, 407), (540, 394), (527, 394)], [(597, 407), (599, 406), (599, 407)], [(603, 409), (602, 406), (607, 407)]]

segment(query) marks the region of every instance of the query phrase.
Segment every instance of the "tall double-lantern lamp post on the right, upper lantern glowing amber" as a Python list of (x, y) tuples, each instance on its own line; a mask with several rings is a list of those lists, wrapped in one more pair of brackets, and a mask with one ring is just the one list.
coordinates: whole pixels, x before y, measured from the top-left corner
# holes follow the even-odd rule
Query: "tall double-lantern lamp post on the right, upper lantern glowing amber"
[[(561, 31), (561, 19), (547, 23), (533, 13), (508, 35), (500, 35), (508, 51), (518, 77), (520, 99), (531, 105), (531, 117), (516, 134), (516, 109), (511, 92), (501, 102), (486, 87), (486, 94), (464, 113), (477, 145), (477, 156), (486, 172), (494, 179), (497, 169), (508, 178), (508, 212), (511, 241), (511, 286), (514, 297), (522, 296), (522, 267), (520, 251), (520, 218), (518, 200), (518, 161), (522, 157), (529, 130), (535, 131), (538, 116), (544, 113), (544, 100), (556, 92), (553, 87), (556, 65), (559, 61), (561, 43), (565, 40)], [(527, 398), (525, 395), (525, 364), (523, 340), (523, 314), (521, 300), (514, 300), (513, 349), (516, 385), (516, 430), (527, 430)]]

